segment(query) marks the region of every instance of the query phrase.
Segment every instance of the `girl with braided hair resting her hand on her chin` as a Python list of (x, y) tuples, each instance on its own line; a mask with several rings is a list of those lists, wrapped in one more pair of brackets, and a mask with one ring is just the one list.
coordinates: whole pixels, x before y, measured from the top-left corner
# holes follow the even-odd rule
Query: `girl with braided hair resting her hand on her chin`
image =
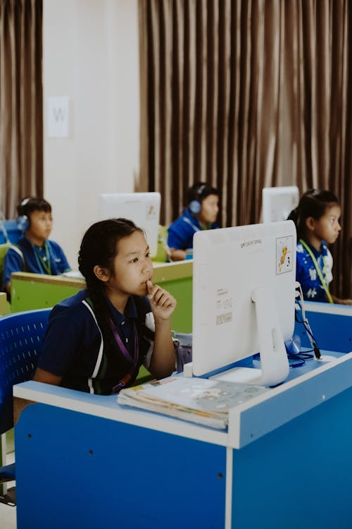
[(151, 281), (142, 229), (127, 219), (93, 224), (78, 263), (87, 289), (51, 311), (34, 380), (111, 394), (132, 384), (142, 364), (156, 378), (170, 375), (176, 300)]

